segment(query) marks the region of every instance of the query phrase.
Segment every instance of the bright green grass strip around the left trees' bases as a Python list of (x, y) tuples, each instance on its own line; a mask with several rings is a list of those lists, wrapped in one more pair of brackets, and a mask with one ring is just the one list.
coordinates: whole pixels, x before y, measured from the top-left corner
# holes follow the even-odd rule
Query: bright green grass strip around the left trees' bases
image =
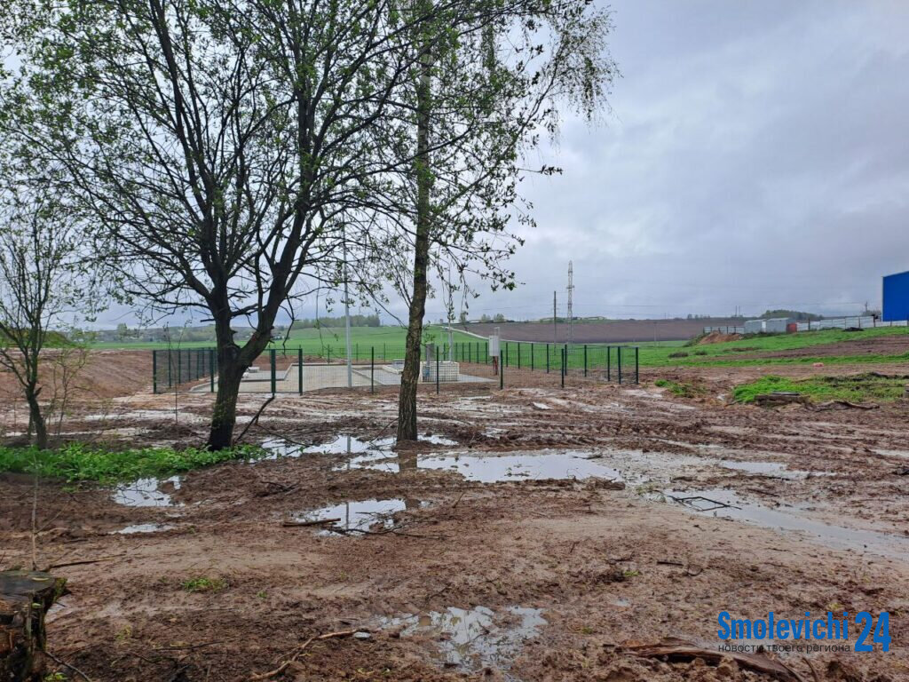
[(0, 471), (37, 474), (68, 483), (91, 481), (111, 485), (138, 478), (174, 476), (231, 459), (256, 459), (266, 454), (258, 446), (235, 446), (217, 452), (195, 447), (109, 450), (74, 444), (58, 450), (39, 450), (36, 447), (0, 446)]

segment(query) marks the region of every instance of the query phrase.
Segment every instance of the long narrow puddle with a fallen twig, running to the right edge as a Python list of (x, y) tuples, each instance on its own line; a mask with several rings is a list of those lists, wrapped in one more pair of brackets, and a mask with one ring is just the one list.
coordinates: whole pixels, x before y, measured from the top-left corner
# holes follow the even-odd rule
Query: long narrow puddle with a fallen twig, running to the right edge
[(804, 510), (797, 506), (770, 508), (745, 502), (732, 490), (665, 490), (663, 495), (697, 513), (733, 518), (754, 526), (803, 531), (820, 538), (829, 547), (874, 552), (884, 557), (909, 557), (907, 537), (814, 521), (804, 517)]

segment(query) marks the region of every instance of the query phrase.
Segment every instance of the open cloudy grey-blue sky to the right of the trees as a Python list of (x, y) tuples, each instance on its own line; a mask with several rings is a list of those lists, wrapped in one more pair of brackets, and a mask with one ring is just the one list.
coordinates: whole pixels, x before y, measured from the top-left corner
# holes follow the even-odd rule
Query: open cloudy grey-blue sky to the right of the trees
[(909, 2), (611, 6), (612, 112), (535, 159), (564, 175), (525, 183), (524, 284), (470, 317), (564, 314), (569, 260), (582, 316), (880, 306), (909, 269)]

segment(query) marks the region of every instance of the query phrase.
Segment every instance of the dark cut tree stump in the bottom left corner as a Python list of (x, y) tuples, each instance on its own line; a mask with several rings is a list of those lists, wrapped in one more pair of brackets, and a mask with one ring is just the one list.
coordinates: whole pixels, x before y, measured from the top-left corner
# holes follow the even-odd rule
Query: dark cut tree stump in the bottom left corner
[(43, 677), (45, 614), (65, 583), (38, 571), (0, 572), (0, 681)]

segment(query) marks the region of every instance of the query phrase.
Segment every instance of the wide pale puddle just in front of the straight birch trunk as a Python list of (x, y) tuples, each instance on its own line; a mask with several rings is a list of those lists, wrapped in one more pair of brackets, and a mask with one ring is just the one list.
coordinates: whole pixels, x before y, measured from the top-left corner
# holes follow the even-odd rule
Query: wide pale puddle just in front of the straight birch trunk
[[(348, 465), (338, 468), (347, 468)], [(617, 469), (589, 459), (586, 453), (574, 450), (539, 450), (534, 452), (511, 453), (507, 455), (451, 456), (386, 456), (366, 455), (353, 458), (351, 468), (368, 468), (398, 473), (403, 469), (445, 469), (453, 470), (467, 480), (480, 483), (499, 481), (520, 481), (546, 478), (612, 478), (621, 480)]]

